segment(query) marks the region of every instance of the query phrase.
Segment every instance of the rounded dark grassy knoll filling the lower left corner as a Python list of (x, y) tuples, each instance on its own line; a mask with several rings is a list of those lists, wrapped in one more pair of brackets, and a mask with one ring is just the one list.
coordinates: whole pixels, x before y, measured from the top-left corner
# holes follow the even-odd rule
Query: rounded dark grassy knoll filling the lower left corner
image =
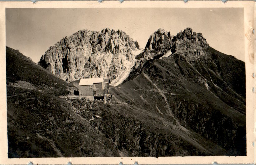
[(9, 157), (117, 155), (105, 136), (54, 96), (35, 91), (8, 98), (7, 116)]

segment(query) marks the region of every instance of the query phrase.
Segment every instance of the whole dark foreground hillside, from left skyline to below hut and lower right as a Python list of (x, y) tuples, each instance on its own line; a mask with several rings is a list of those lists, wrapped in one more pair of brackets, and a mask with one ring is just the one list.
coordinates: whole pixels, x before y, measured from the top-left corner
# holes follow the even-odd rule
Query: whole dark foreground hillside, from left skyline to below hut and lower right
[[(187, 130), (173, 116), (133, 105), (125, 93), (117, 93), (119, 88), (107, 104), (59, 98), (52, 94), (54, 90), (65, 94), (72, 87), (18, 51), (8, 47), (6, 51), (7, 68), (17, 68), (7, 70), (9, 158), (225, 154), (220, 146)], [(18, 67), (27, 67), (27, 74)], [(10, 76), (14, 73), (17, 76)], [(61, 85), (52, 89), (50, 85), (56, 83)]]

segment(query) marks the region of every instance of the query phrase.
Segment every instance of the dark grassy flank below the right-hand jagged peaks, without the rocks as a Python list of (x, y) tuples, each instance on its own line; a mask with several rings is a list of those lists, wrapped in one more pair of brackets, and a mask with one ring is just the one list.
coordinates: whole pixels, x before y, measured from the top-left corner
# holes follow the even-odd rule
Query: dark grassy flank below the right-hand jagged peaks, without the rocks
[[(132, 72), (128, 82), (112, 91), (123, 93), (124, 100), (170, 121), (167, 103), (159, 94), (159, 88), (171, 112), (184, 127), (225, 148), (228, 155), (246, 155), (244, 63), (211, 48), (208, 53), (208, 57), (202, 56), (200, 61), (198, 58), (186, 60), (186, 54), (178, 53), (163, 60), (148, 60)], [(211, 63), (215, 63), (217, 71), (209, 69)], [(207, 69), (202, 69), (203, 65)], [(148, 75), (157, 88), (143, 74)]]

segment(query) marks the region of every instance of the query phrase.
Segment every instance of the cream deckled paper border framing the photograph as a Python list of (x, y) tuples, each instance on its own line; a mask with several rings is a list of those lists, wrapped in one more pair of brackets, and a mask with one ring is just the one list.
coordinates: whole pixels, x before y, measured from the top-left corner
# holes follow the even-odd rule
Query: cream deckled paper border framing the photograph
[[(252, 1), (228, 1), (223, 4), (219, 1), (206, 1), (203, 3), (189, 1), (186, 4), (184, 2), (143, 2), (143, 1), (124, 1), (122, 4), (116, 1), (103, 1), (102, 3), (89, 1), (89, 2), (0, 2), (1, 18), (1, 47), (2, 49), (0, 57), (1, 65), (1, 121), (0, 130), (2, 133), (1, 144), (4, 144), (0, 150), (0, 164), (27, 164), (32, 162), (33, 164), (209, 164), (209, 163), (253, 163), (254, 161), (254, 93), (251, 88), (254, 86), (254, 79), (251, 78), (251, 74), (254, 71), (254, 61), (252, 60), (251, 53), (254, 52), (251, 47), (254, 43), (254, 35), (252, 35), (252, 27), (254, 27), (254, 2)], [(7, 157), (7, 99), (6, 99), (6, 59), (5, 59), (5, 8), (122, 8), (122, 7), (176, 7), (176, 8), (208, 8), (209, 4), (213, 8), (222, 7), (240, 7), (244, 8), (244, 48), (245, 48), (245, 65), (246, 65), (246, 132), (247, 132), (247, 156), (209, 156), (209, 157), (97, 157), (97, 158), (8, 158)], [(250, 38), (251, 36), (252, 38)]]

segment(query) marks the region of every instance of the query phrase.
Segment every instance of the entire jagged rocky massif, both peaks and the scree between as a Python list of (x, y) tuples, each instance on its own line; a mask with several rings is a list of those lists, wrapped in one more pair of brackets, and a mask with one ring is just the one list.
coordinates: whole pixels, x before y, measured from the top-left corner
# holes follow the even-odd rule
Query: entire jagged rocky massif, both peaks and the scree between
[(191, 28), (176, 36), (158, 29), (149, 37), (142, 53), (138, 42), (122, 30), (80, 30), (51, 46), (38, 64), (67, 82), (109, 77), (116, 86), (128, 77), (133, 66), (137, 68), (142, 61), (169, 56), (176, 51), (196, 51), (200, 55), (207, 47), (202, 34)]

